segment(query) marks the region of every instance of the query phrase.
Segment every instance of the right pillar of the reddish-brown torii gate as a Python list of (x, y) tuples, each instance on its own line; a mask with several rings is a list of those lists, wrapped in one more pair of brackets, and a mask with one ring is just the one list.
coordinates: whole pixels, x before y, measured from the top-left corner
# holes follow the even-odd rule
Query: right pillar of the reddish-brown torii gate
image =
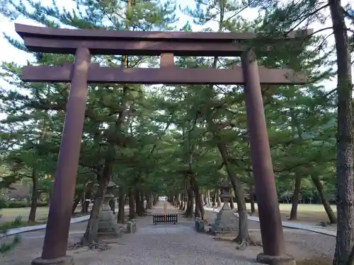
[[(295, 259), (287, 255), (285, 250), (258, 64), (256, 54), (251, 49), (242, 54), (241, 65), (244, 72), (247, 129), (263, 245), (263, 253), (258, 254), (257, 261), (262, 264), (296, 265)], [(277, 79), (277, 76), (274, 78)]]

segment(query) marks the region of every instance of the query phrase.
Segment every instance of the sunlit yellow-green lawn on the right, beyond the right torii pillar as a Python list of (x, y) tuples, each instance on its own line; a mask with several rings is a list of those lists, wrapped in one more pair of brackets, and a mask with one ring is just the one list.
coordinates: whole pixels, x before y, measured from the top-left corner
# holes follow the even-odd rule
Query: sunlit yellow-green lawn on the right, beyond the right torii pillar
[[(251, 204), (246, 204), (247, 210), (251, 210)], [(280, 214), (282, 220), (287, 220), (290, 217), (291, 204), (280, 204)], [(331, 205), (332, 210), (336, 213), (336, 205)], [(255, 205), (257, 211), (257, 204)], [(254, 214), (255, 216), (257, 213)], [(319, 223), (321, 221), (326, 222), (328, 220), (326, 211), (322, 204), (299, 204), (297, 206), (297, 221), (306, 223)]]

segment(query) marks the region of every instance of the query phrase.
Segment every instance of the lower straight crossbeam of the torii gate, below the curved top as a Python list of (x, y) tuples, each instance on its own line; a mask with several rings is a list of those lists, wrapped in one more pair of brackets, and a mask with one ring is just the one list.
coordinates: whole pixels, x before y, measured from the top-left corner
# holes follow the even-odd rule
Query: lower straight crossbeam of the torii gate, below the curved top
[[(73, 64), (62, 66), (25, 66), (21, 80), (30, 82), (70, 82)], [(289, 85), (307, 83), (302, 73), (291, 69), (258, 67), (262, 85)], [(110, 68), (91, 64), (88, 83), (141, 83), (141, 84), (215, 84), (244, 85), (241, 66), (233, 69), (178, 69), (178, 68)]]

